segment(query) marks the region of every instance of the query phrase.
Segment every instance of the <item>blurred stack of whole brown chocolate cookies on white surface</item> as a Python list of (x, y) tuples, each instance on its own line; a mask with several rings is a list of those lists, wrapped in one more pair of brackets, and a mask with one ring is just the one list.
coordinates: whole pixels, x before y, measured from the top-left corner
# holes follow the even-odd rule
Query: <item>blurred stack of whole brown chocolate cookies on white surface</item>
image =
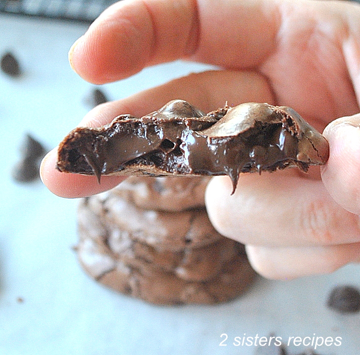
[(242, 244), (211, 225), (208, 177), (127, 178), (79, 206), (81, 265), (100, 283), (154, 304), (215, 304), (255, 271)]

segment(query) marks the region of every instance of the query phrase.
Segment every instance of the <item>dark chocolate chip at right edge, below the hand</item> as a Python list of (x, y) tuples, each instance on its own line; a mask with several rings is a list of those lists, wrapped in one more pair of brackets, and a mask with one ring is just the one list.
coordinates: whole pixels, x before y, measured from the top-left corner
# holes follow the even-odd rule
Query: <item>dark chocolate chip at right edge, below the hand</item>
[(332, 289), (327, 307), (340, 313), (355, 313), (360, 311), (360, 292), (356, 287), (345, 285)]

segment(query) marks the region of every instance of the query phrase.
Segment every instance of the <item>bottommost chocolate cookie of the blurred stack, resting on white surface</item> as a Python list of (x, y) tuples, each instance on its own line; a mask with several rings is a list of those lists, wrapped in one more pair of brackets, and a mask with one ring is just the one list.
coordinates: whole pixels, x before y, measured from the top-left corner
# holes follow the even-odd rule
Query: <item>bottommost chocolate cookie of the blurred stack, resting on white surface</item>
[(254, 278), (247, 260), (239, 258), (225, 264), (217, 277), (203, 282), (185, 281), (168, 272), (153, 273), (147, 267), (129, 268), (124, 280), (123, 268), (124, 265), (119, 263), (99, 281), (121, 293), (167, 305), (227, 302), (240, 296)]

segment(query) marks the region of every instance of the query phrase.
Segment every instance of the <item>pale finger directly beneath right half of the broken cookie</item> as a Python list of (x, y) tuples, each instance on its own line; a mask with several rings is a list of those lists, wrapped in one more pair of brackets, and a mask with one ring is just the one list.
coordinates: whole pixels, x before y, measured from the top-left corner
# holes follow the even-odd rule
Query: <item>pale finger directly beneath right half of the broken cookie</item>
[(335, 245), (360, 241), (359, 217), (339, 206), (320, 180), (278, 171), (240, 175), (234, 195), (228, 177), (214, 177), (206, 207), (215, 228), (244, 244)]

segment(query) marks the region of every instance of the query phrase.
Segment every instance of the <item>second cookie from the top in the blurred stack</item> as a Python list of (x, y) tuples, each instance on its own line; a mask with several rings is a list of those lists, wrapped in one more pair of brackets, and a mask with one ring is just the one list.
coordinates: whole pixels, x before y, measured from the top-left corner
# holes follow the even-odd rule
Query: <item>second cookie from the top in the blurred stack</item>
[(110, 191), (87, 198), (79, 213), (88, 209), (101, 221), (126, 231), (131, 239), (170, 251), (200, 247), (222, 238), (204, 208), (178, 213), (145, 210)]

